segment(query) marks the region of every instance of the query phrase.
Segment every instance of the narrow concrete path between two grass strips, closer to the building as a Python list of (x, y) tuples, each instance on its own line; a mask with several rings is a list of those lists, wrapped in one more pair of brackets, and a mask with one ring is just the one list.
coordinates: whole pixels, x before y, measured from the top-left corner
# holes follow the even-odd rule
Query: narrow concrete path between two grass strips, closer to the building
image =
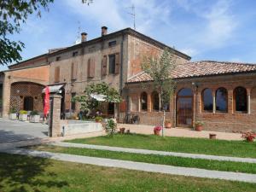
[(217, 155), (208, 155), (208, 154), (187, 154), (187, 153), (147, 150), (147, 149), (140, 149), (140, 148), (119, 148), (119, 147), (109, 147), (109, 146), (103, 146), (103, 145), (90, 145), (90, 144), (81, 144), (81, 143), (56, 142), (56, 143), (50, 143), (50, 144), (55, 146), (65, 147), (65, 148), (91, 148), (91, 149), (125, 152), (125, 153), (132, 153), (132, 154), (158, 154), (158, 155), (185, 157), (185, 158), (192, 158), (192, 159), (227, 160), (227, 161), (236, 161), (236, 162), (245, 162), (245, 163), (256, 163), (256, 159), (253, 159), (253, 158), (228, 157), (228, 156), (217, 156)]

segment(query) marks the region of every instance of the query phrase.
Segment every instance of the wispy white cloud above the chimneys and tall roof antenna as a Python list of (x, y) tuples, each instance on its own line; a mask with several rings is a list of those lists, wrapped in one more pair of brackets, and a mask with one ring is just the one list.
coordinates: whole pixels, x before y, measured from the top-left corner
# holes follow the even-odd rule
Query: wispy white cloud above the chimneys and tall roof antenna
[(170, 15), (167, 4), (156, 0), (97, 0), (90, 6), (83, 5), (78, 0), (65, 0), (65, 3), (75, 14), (89, 18), (99, 26), (109, 26), (111, 31), (133, 27), (133, 18), (129, 14), (132, 4), (135, 5), (139, 32), (148, 32), (159, 22), (167, 23)]

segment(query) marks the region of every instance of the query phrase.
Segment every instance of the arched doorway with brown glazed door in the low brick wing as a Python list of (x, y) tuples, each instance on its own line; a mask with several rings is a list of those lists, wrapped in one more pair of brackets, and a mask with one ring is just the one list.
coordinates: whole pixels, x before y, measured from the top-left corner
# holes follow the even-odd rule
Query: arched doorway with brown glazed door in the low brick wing
[(193, 125), (193, 91), (183, 88), (177, 93), (177, 125)]

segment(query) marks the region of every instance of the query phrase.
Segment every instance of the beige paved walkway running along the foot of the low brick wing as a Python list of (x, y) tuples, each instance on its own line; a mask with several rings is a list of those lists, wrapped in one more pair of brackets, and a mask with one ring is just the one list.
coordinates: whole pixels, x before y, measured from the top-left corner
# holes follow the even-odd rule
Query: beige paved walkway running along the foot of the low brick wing
[[(131, 132), (152, 135), (154, 134), (153, 125), (131, 125), (131, 124), (119, 124), (118, 128), (125, 127), (125, 129)], [(170, 137), (194, 137), (194, 138), (209, 138), (209, 134), (214, 133), (217, 135), (217, 139), (221, 140), (236, 140), (241, 141), (240, 133), (231, 132), (218, 132), (218, 131), (194, 131), (189, 128), (172, 128), (165, 129), (165, 136)]]

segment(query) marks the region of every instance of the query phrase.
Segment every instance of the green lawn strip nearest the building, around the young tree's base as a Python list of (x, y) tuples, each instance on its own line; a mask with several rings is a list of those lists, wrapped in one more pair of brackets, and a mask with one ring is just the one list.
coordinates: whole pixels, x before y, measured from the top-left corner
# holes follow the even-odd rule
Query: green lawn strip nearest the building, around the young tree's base
[(146, 148), (160, 151), (174, 151), (191, 154), (213, 154), (256, 158), (256, 142), (224, 141), (187, 137), (157, 137), (153, 135), (115, 135), (114, 137), (93, 137), (74, 139), (71, 143), (118, 146), (125, 148)]

